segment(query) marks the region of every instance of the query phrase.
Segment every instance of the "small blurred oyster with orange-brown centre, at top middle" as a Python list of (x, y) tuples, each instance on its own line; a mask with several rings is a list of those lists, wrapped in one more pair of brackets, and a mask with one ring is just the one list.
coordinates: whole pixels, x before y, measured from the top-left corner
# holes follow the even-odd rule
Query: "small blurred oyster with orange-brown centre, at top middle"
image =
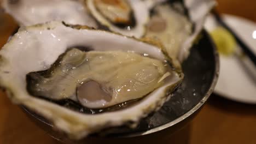
[(149, 19), (149, 9), (143, 1), (86, 0), (86, 6), (95, 19), (110, 31), (141, 38)]

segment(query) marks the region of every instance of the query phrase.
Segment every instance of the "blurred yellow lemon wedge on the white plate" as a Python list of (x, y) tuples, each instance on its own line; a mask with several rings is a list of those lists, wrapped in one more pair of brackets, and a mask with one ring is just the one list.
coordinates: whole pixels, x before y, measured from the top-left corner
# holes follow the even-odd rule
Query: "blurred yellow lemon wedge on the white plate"
[(217, 27), (210, 34), (220, 54), (230, 56), (235, 52), (236, 40), (225, 28)]

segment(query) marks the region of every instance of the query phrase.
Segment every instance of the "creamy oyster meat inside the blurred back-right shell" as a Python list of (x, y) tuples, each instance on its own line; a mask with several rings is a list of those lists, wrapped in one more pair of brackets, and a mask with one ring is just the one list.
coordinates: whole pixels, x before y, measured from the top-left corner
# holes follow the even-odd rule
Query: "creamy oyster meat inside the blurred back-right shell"
[(177, 58), (183, 42), (190, 37), (193, 23), (169, 4), (156, 5), (145, 37), (161, 41), (168, 55)]

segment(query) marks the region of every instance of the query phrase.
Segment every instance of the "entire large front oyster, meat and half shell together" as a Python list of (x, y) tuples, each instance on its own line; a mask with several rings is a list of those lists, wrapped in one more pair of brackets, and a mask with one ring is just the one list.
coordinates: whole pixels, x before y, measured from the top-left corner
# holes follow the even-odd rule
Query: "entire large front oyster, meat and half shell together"
[(159, 47), (61, 22), (20, 28), (0, 59), (0, 86), (9, 98), (72, 139), (134, 127), (183, 80)]

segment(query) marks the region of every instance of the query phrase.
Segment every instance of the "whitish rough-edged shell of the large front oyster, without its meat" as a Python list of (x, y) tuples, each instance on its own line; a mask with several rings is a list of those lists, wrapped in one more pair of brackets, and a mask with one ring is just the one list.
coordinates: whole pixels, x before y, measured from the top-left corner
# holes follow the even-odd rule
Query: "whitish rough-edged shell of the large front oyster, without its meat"
[(26, 75), (49, 69), (69, 47), (76, 46), (103, 52), (147, 53), (150, 58), (171, 62), (158, 47), (88, 27), (50, 22), (19, 29), (0, 51), (0, 86), (7, 90), (9, 98), (16, 104), (25, 105), (49, 119), (55, 128), (64, 131), (72, 139), (82, 139), (109, 127), (134, 127), (141, 118), (158, 110), (183, 79), (183, 74), (171, 70), (170, 76), (166, 77), (160, 87), (134, 105), (97, 115), (79, 113), (31, 95), (26, 88)]

